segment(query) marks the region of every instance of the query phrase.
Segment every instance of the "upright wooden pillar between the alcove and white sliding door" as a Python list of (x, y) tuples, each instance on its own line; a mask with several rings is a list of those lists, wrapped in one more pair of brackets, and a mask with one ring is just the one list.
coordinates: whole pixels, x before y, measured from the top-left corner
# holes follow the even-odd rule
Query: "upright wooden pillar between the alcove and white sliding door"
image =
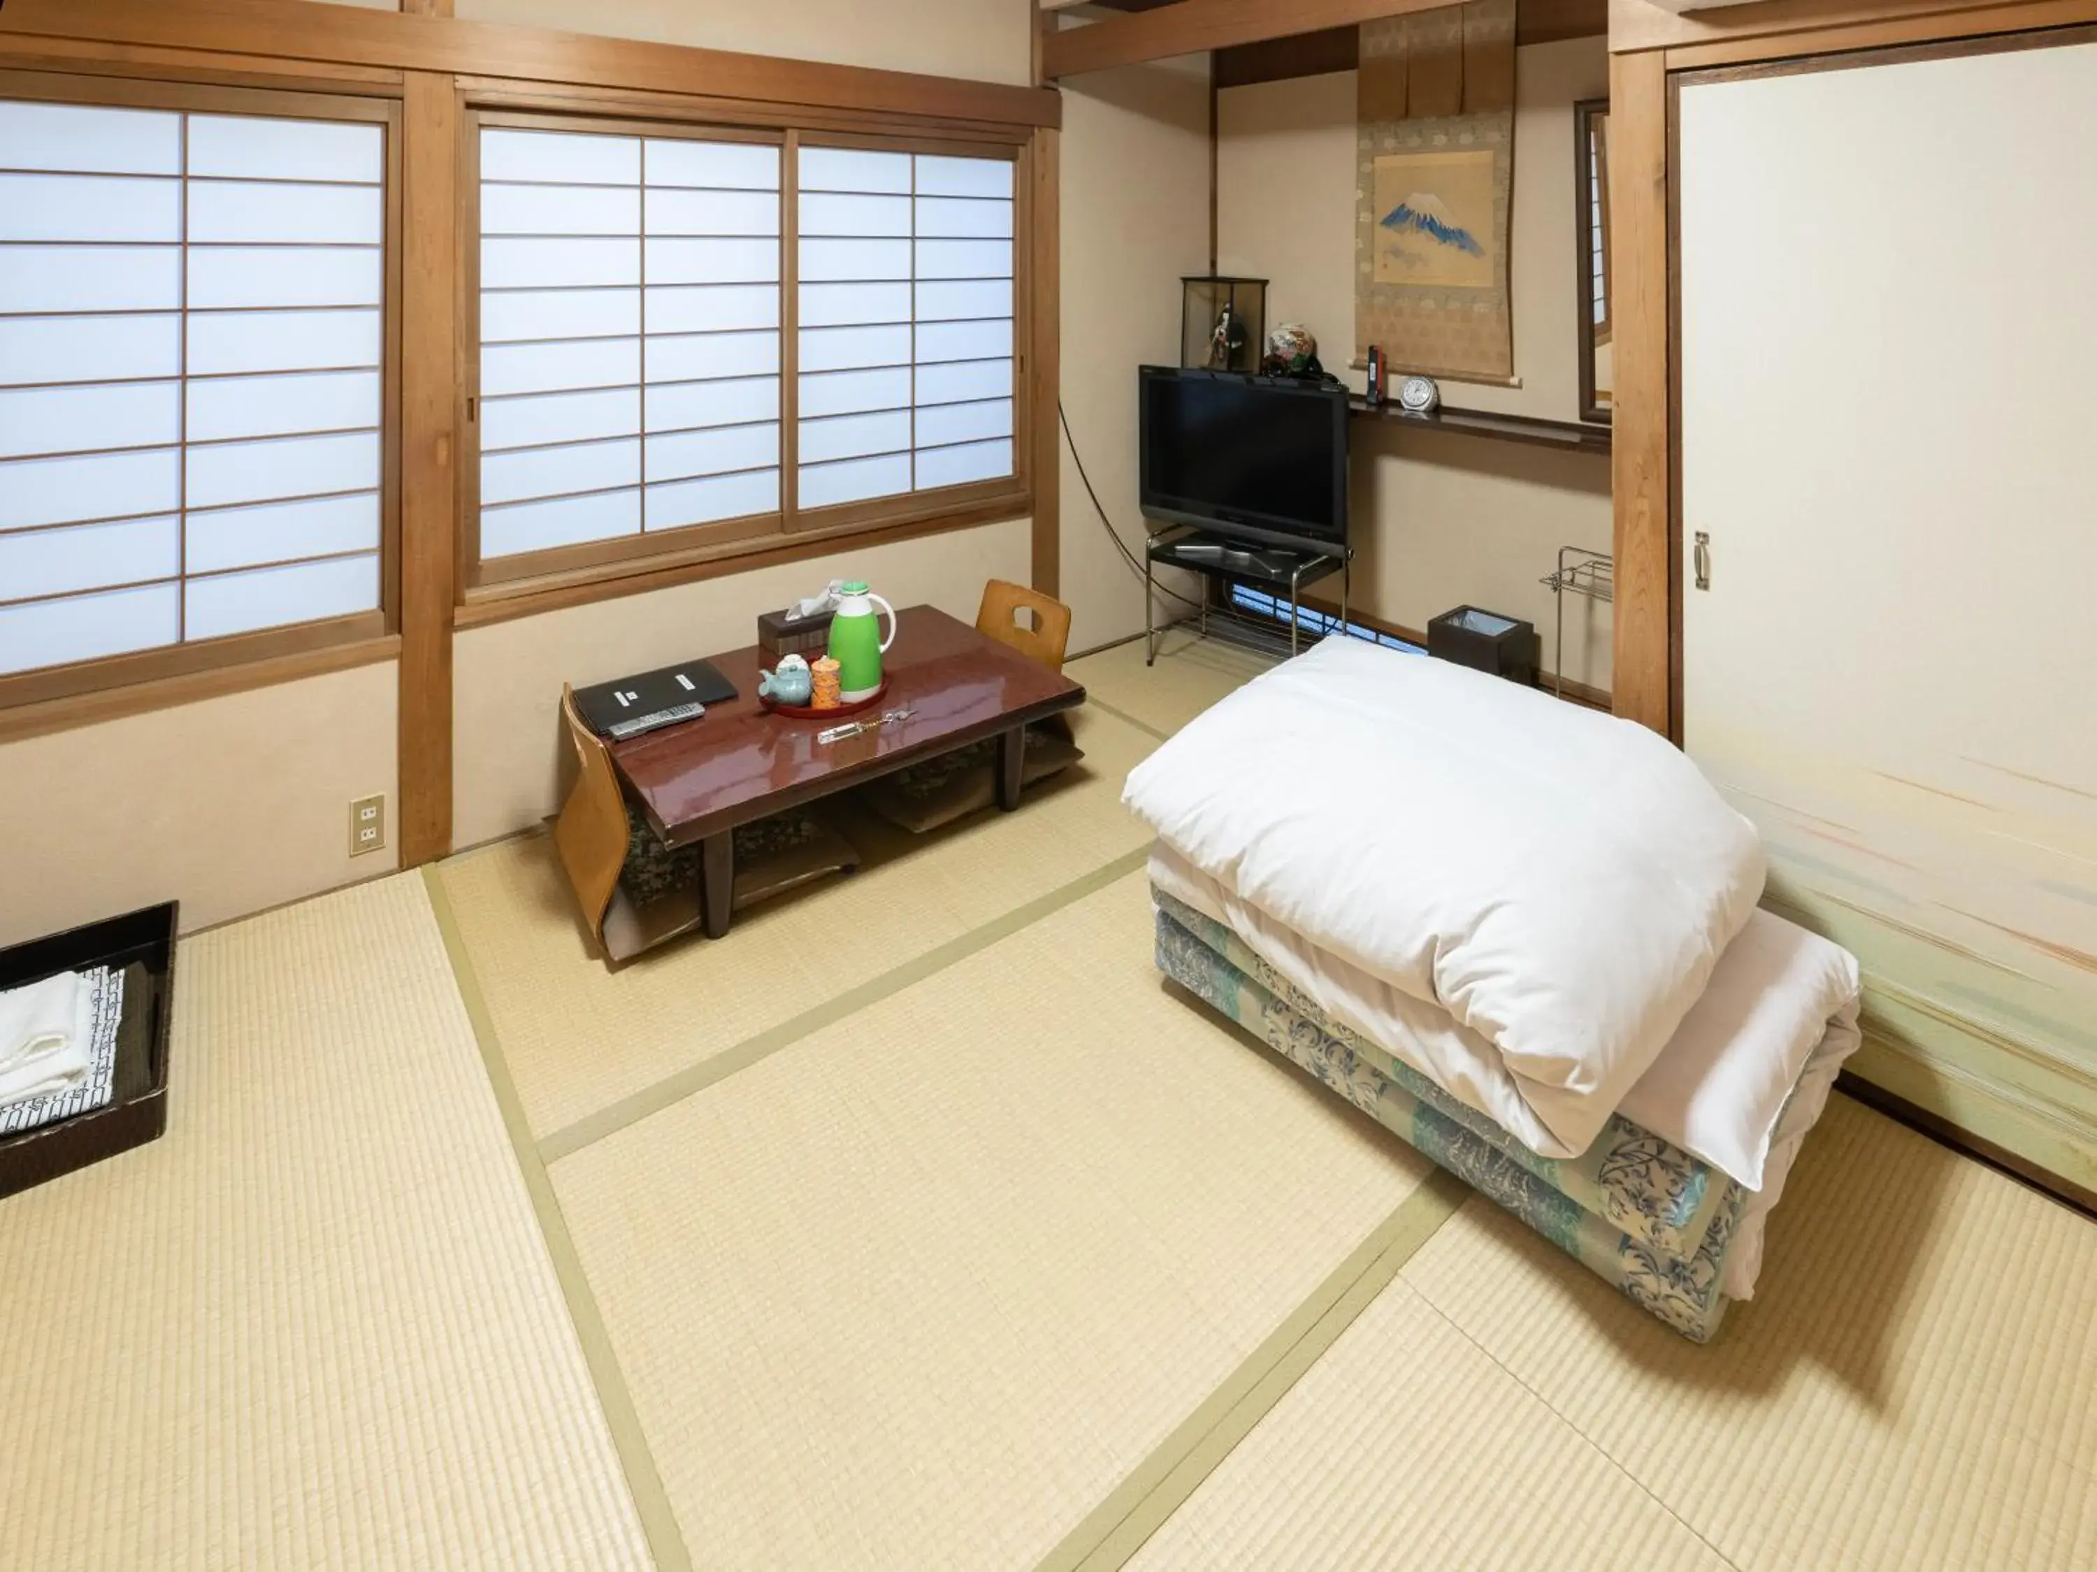
[(1680, 738), (1673, 375), (1667, 300), (1667, 63), (1608, 63), (1608, 302), (1615, 335), (1617, 715)]

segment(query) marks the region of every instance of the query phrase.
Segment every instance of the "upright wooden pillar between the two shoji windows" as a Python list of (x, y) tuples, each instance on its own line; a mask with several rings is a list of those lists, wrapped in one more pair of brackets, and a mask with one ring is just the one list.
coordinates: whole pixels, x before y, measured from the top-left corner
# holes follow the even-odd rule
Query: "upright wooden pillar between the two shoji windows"
[[(421, 0), (445, 4), (449, 0)], [(401, 266), (401, 866), (451, 851), (459, 101), (407, 73)]]

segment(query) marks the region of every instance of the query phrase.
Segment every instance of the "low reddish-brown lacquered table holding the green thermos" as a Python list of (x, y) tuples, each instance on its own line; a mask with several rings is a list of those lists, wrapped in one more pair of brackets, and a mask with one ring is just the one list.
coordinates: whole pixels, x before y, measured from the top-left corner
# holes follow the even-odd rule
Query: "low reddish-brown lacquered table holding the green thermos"
[[(707, 935), (730, 924), (738, 824), (763, 820), (847, 790), (904, 765), (998, 738), (998, 807), (1019, 807), (1025, 727), (1084, 702), (1084, 687), (977, 633), (933, 606), (906, 606), (895, 643), (881, 658), (889, 692), (851, 717), (786, 719), (757, 702), (759, 667), (778, 664), (757, 646), (709, 656), (736, 698), (696, 721), (612, 744), (612, 763), (669, 847), (702, 847)], [(816, 734), (885, 711), (908, 721), (841, 742)]]

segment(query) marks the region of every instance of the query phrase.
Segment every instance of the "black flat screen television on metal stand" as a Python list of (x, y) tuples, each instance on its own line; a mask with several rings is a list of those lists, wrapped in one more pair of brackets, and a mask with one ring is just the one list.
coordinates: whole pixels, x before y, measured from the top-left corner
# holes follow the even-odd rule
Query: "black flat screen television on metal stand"
[(1145, 516), (1267, 545), (1346, 545), (1346, 390), (1139, 373)]

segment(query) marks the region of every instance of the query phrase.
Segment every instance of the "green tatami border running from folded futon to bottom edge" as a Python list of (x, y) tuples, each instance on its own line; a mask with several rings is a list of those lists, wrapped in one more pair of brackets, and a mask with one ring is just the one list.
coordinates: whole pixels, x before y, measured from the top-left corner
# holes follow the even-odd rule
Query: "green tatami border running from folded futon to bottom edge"
[(1078, 1524), (1036, 1572), (1116, 1572), (1185, 1505), (1225, 1457), (1281, 1402), (1304, 1371), (1369, 1308), (1405, 1262), (1472, 1195), (1432, 1170), (1304, 1304)]

